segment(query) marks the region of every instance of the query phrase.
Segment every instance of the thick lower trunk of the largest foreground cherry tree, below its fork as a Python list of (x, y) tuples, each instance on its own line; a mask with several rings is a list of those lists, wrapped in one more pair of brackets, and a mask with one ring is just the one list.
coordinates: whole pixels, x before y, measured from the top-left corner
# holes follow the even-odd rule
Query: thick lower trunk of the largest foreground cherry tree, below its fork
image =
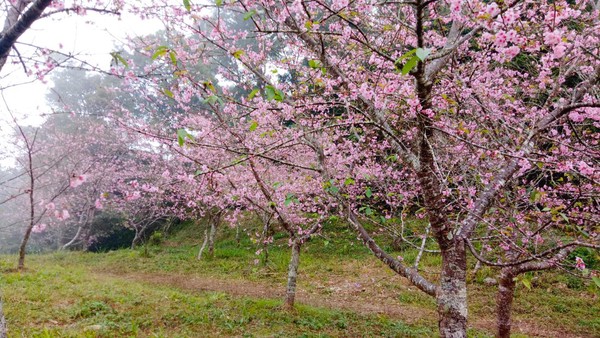
[(442, 274), (437, 292), (440, 337), (467, 336), (467, 256), (463, 241), (442, 249)]

